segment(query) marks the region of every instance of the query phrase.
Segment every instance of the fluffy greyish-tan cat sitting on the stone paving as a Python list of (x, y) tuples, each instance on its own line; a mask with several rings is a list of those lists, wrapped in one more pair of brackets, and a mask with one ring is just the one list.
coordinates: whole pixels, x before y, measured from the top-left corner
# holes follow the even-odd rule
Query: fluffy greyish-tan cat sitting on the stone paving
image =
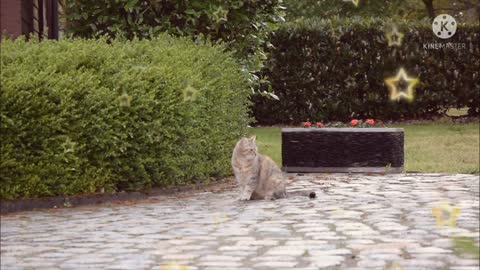
[[(268, 156), (258, 153), (256, 136), (241, 138), (232, 154), (232, 168), (240, 187), (240, 200), (274, 200), (287, 197), (282, 170)], [(310, 192), (310, 198), (315, 193)]]

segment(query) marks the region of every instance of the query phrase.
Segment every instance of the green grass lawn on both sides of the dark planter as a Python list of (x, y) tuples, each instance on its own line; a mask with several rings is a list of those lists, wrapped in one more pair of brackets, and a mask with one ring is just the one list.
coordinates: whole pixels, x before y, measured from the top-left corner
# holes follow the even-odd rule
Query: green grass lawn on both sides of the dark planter
[[(405, 169), (415, 172), (476, 173), (479, 165), (479, 123), (449, 121), (395, 124), (405, 130)], [(260, 153), (282, 164), (280, 128), (252, 128)]]

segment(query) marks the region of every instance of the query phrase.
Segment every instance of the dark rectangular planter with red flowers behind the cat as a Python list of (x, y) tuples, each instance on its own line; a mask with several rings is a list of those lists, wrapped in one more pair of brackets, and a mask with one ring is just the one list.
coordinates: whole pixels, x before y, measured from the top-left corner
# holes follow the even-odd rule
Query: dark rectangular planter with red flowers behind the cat
[(286, 172), (403, 172), (400, 128), (283, 128)]

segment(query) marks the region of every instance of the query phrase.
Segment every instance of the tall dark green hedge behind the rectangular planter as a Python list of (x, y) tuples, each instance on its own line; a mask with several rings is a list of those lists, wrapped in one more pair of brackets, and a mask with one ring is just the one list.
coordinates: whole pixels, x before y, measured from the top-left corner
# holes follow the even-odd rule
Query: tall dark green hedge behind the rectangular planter
[[(459, 26), (448, 41), (429, 24), (399, 24), (401, 47), (389, 47), (383, 20), (310, 20), (282, 27), (264, 69), (280, 98), (255, 98), (259, 124), (346, 121), (358, 118), (423, 118), (451, 107), (479, 113), (480, 31)], [(427, 43), (465, 43), (460, 50), (423, 48)], [(405, 67), (419, 77), (413, 102), (391, 102), (384, 83)]]

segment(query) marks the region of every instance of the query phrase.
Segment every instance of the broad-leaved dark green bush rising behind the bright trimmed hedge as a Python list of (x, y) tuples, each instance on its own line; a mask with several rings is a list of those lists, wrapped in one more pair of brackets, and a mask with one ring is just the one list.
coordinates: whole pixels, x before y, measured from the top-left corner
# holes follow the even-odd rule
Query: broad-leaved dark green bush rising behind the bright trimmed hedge
[(281, 0), (67, 1), (67, 30), (96, 35), (150, 38), (168, 32), (225, 42), (251, 71), (265, 59), (262, 46), (283, 21)]

